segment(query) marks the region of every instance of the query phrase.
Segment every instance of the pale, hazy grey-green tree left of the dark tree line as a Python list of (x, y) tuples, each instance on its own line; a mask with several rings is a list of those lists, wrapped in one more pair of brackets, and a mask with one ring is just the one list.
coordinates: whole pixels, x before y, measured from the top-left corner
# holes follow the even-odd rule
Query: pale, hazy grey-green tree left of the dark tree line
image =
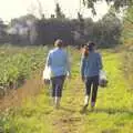
[(12, 19), (9, 23), (8, 33), (11, 37), (11, 42), (20, 44), (33, 44), (37, 40), (35, 22), (38, 19), (33, 14), (22, 16)]

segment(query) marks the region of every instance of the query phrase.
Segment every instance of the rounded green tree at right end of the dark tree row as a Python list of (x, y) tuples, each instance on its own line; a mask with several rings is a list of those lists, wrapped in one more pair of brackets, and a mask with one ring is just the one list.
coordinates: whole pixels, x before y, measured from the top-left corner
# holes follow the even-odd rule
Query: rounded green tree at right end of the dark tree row
[(106, 13), (100, 21), (86, 23), (86, 39), (98, 43), (101, 48), (110, 48), (120, 44), (122, 22), (119, 18)]

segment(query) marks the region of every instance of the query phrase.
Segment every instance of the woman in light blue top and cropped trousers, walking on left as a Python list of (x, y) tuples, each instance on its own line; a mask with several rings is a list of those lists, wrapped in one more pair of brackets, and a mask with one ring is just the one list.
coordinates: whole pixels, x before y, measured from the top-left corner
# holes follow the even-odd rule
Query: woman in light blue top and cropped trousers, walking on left
[(60, 106), (65, 76), (70, 75), (70, 62), (66, 52), (62, 49), (62, 40), (57, 40), (54, 45), (55, 48), (48, 54), (47, 65), (50, 68), (52, 98), (58, 109)]

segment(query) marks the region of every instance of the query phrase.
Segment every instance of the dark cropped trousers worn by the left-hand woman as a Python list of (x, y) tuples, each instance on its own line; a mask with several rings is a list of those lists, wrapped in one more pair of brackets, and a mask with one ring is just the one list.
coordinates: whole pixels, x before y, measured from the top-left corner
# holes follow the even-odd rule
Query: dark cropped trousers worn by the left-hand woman
[(65, 75), (54, 76), (51, 79), (52, 83), (52, 96), (62, 96), (62, 89)]

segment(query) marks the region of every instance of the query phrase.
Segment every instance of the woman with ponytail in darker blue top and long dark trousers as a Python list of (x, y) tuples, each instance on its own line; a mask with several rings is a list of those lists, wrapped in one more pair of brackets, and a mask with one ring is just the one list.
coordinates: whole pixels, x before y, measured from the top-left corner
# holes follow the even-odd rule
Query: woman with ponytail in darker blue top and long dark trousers
[(93, 109), (95, 105), (99, 86), (99, 73), (101, 69), (102, 58), (100, 53), (95, 51), (95, 44), (93, 42), (89, 42), (84, 47), (84, 53), (81, 59), (81, 76), (82, 81), (85, 83), (84, 109), (89, 105), (91, 89), (91, 108)]

